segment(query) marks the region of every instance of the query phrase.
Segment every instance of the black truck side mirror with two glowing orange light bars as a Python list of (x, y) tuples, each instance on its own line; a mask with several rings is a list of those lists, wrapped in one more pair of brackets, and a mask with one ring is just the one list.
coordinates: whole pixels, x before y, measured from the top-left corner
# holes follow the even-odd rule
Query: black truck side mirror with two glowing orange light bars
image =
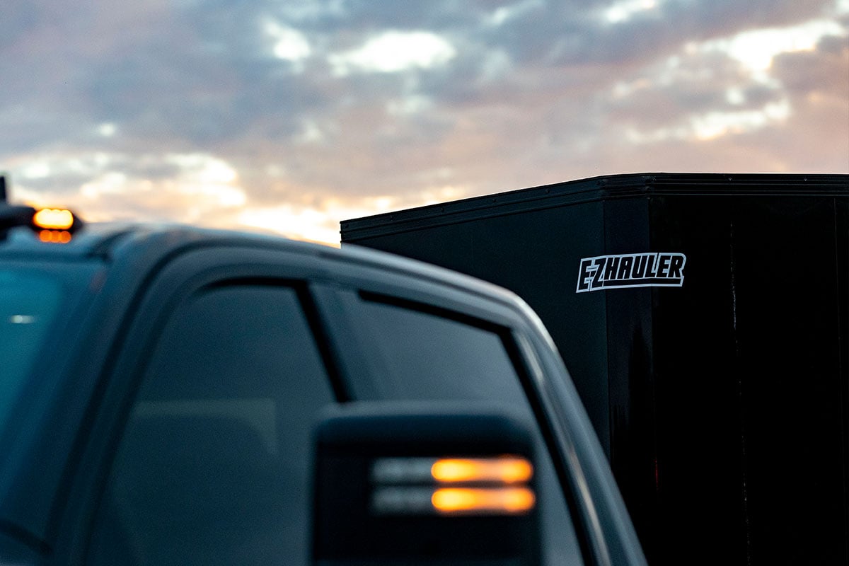
[(540, 563), (533, 440), (506, 413), (355, 403), (316, 429), (312, 563)]

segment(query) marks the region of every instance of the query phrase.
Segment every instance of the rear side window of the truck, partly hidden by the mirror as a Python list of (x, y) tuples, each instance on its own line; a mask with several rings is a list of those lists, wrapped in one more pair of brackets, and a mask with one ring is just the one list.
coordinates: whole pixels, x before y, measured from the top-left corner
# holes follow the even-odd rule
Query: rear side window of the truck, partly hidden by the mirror
[[(534, 420), (499, 332), (471, 322), (380, 301), (363, 300), (362, 325), (380, 366), (363, 392), (395, 400), (497, 401)], [(374, 395), (374, 393), (365, 395)], [(543, 552), (548, 565), (582, 563), (563, 491), (542, 435), (537, 433)]]

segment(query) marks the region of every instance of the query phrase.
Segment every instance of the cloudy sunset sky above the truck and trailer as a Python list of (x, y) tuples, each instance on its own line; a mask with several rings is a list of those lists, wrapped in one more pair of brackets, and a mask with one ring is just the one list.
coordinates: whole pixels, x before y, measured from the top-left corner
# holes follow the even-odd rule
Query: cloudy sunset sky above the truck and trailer
[(849, 173), (849, 0), (3, 0), (16, 202), (339, 243), (627, 172)]

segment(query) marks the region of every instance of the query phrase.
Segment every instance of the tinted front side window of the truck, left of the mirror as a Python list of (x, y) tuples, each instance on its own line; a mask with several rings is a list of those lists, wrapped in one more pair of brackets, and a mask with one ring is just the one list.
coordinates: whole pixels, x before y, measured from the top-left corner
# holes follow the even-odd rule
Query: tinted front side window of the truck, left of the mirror
[(306, 564), (310, 434), (333, 401), (293, 289), (194, 295), (143, 372), (88, 562)]

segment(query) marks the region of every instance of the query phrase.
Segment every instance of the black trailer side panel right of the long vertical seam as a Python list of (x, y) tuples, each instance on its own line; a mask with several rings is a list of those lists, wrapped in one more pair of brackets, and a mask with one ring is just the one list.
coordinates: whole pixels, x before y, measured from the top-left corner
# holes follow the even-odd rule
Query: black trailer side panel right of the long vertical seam
[(734, 212), (751, 555), (847, 563), (835, 200), (742, 199)]

